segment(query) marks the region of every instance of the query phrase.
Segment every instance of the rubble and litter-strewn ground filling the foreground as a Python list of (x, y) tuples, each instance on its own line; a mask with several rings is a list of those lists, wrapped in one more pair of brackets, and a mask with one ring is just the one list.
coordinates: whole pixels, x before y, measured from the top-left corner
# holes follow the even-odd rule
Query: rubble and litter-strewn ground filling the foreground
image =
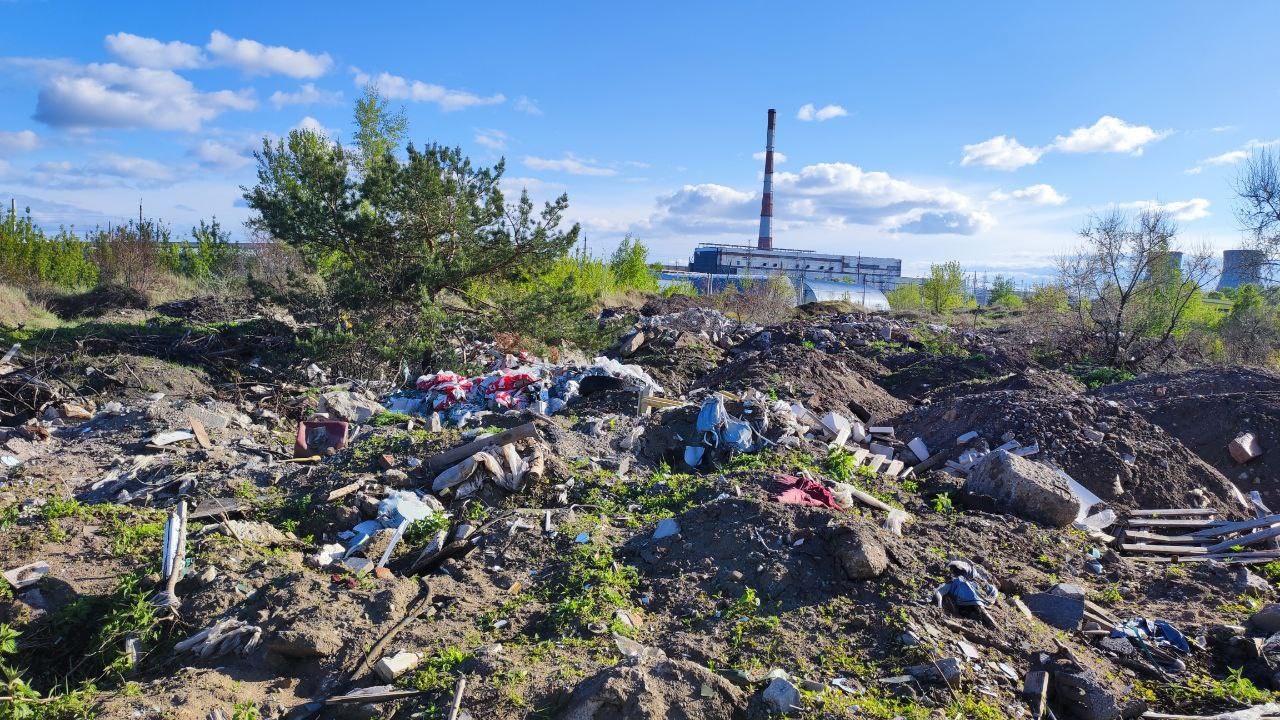
[[(481, 343), (481, 374), (398, 384), (303, 361), (160, 392), (15, 350), (0, 623), (40, 692), (128, 679), (96, 700), (119, 717), (1111, 720), (1280, 691), (1263, 496), (1066, 384), (895, 395), (946, 366), (931, 333), (1039, 372), (983, 333), (696, 306), (589, 363)], [(125, 601), (154, 616), (125, 637), (81, 611)]]

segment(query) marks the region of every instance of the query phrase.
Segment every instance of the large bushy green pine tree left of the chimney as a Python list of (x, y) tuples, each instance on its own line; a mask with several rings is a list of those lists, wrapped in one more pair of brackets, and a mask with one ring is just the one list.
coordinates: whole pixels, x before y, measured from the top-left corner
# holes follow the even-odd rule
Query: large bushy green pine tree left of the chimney
[(577, 241), (579, 225), (561, 228), (567, 195), (541, 210), (527, 193), (504, 201), (500, 160), (475, 167), (438, 143), (394, 156), (388, 143), (403, 128), (372, 91), (357, 126), (357, 152), (305, 129), (264, 140), (257, 184), (243, 188), (250, 227), (296, 247), (338, 306), (403, 322), (449, 293), (500, 313), (486, 290), (527, 281)]

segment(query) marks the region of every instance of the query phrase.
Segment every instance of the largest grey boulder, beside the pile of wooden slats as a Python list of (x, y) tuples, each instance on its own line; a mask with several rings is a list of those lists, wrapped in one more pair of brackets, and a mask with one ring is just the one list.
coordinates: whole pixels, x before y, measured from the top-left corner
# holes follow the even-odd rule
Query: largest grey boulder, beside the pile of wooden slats
[(1006, 512), (1055, 528), (1070, 525), (1080, 514), (1080, 500), (1065, 478), (1002, 450), (973, 466), (964, 489), (995, 498)]

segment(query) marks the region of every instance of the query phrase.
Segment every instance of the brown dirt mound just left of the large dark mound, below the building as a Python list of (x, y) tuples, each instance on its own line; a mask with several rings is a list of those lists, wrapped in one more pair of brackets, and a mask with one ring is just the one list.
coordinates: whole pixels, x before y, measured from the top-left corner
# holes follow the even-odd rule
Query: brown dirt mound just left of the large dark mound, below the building
[(709, 389), (742, 391), (754, 387), (780, 398), (805, 400), (819, 411), (852, 413), (863, 420), (892, 418), (908, 404), (854, 369), (859, 360), (801, 345), (776, 345), (744, 355), (696, 383)]

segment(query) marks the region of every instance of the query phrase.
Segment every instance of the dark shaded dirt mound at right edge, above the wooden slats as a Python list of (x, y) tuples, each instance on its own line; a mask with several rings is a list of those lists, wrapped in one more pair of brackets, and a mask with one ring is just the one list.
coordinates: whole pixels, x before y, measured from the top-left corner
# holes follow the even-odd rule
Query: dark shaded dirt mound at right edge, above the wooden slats
[[(1130, 406), (1240, 489), (1257, 489), (1271, 507), (1280, 507), (1280, 373), (1206, 368), (1147, 375), (1094, 395)], [(1262, 446), (1262, 456), (1244, 465), (1228, 452), (1240, 433), (1253, 433)]]

